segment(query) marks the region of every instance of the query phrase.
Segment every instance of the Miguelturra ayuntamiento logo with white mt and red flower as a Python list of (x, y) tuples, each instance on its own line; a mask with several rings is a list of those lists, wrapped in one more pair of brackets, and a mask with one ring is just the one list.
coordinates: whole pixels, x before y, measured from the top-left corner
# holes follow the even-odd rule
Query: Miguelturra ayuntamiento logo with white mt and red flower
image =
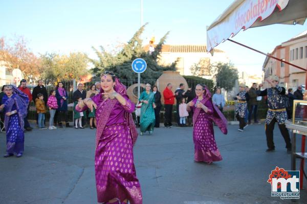
[(271, 184), (272, 197), (299, 199), (299, 171), (286, 171), (276, 166), (267, 182)]

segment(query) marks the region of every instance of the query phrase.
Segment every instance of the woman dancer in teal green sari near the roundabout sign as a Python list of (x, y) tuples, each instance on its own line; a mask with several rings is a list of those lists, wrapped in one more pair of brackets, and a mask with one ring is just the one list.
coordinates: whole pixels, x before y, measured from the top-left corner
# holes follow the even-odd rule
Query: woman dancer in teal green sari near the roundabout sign
[(156, 124), (156, 117), (155, 117), (155, 94), (153, 94), (151, 91), (151, 85), (146, 84), (145, 91), (142, 92), (140, 96), (140, 101), (142, 102), (141, 107), (141, 134), (145, 133), (146, 131), (149, 132), (151, 135), (153, 131), (153, 127)]

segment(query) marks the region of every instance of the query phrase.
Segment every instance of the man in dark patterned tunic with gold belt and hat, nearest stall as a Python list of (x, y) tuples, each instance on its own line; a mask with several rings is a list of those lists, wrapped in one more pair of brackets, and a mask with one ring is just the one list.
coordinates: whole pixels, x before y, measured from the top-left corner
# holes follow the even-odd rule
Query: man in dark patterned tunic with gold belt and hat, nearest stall
[(278, 86), (279, 78), (276, 75), (273, 75), (271, 79), (266, 80), (271, 88), (267, 88), (263, 91), (260, 91), (262, 84), (259, 84), (259, 90), (257, 95), (259, 96), (268, 96), (268, 113), (266, 119), (266, 136), (267, 136), (267, 145), (268, 149), (266, 151), (274, 151), (275, 146), (273, 142), (273, 130), (275, 122), (278, 123), (280, 133), (286, 142), (287, 152), (291, 153), (291, 140), (289, 136), (288, 129), (286, 128), (287, 120), (287, 111), (286, 111), (286, 99), (285, 93), (286, 89)]

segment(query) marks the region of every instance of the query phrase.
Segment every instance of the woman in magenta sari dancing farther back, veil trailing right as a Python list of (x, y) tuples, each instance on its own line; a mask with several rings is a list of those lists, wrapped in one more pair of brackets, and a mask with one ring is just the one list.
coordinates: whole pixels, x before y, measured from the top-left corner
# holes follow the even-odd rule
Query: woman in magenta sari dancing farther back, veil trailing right
[(187, 110), (193, 110), (194, 161), (221, 161), (222, 156), (216, 146), (213, 122), (227, 134), (227, 120), (216, 106), (212, 104), (209, 89), (202, 84), (195, 88), (196, 97), (188, 103)]

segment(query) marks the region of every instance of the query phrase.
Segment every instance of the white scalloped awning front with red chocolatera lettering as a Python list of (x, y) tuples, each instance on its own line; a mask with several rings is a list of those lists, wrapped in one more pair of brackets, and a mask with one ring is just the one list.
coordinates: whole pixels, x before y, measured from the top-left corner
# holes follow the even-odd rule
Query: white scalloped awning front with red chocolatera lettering
[(259, 18), (269, 17), (274, 9), (279, 11), (288, 5), (289, 0), (238, 0), (230, 5), (207, 28), (207, 50), (236, 35), (241, 29), (248, 29)]

